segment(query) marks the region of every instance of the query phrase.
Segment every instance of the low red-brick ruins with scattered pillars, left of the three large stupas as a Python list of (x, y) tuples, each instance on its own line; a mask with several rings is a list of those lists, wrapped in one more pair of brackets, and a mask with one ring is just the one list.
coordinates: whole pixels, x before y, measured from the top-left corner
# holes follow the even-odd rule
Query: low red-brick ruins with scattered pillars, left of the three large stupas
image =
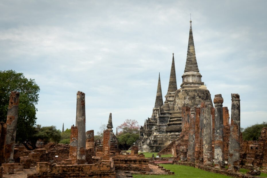
[(70, 144), (48, 143), (32, 151), (15, 148), (19, 93), (11, 92), (7, 122), (0, 122), (0, 177), (31, 170), (27, 177), (132, 177), (132, 174), (174, 174), (150, 164), (133, 146), (131, 154), (120, 154), (109, 114), (103, 140), (94, 140), (94, 130), (86, 131), (85, 94), (77, 92), (76, 125), (71, 126)]

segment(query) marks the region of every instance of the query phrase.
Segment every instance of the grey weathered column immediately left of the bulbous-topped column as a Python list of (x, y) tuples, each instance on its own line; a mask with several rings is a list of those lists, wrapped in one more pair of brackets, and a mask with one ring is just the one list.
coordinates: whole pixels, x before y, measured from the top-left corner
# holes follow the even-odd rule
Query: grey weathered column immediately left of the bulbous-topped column
[(212, 118), (211, 105), (208, 102), (201, 103), (201, 115), (203, 117), (203, 164), (212, 165)]

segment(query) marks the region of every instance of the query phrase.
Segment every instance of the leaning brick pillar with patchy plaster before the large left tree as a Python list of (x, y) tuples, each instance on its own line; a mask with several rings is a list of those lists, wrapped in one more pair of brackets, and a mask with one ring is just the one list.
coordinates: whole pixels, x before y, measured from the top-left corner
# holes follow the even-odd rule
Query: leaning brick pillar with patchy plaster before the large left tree
[(11, 92), (7, 110), (7, 135), (4, 146), (4, 156), (6, 163), (14, 162), (13, 155), (18, 123), (19, 100), (20, 93), (16, 91)]

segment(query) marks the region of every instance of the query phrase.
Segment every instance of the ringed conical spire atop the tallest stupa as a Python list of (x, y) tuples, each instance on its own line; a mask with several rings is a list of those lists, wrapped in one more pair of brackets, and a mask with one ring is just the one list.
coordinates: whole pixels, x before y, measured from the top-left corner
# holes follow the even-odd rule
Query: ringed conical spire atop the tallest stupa
[(185, 71), (184, 72), (188, 72), (188, 71), (199, 72), (198, 63), (197, 63), (197, 59), (196, 59), (194, 39), (193, 39), (191, 17), (190, 17), (190, 30), (189, 30), (187, 57), (186, 57)]

